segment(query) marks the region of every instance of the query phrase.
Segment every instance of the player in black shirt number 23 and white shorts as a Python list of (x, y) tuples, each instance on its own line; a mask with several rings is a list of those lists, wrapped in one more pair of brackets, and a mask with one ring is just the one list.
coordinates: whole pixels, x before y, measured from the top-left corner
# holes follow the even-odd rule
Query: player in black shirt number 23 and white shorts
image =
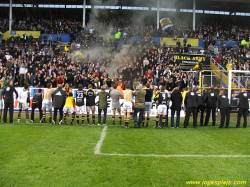
[(78, 90), (76, 91), (76, 121), (77, 125), (79, 125), (79, 114), (82, 115), (82, 125), (84, 125), (84, 112), (85, 112), (85, 106), (84, 106), (84, 91), (83, 91), (83, 85), (78, 85)]

